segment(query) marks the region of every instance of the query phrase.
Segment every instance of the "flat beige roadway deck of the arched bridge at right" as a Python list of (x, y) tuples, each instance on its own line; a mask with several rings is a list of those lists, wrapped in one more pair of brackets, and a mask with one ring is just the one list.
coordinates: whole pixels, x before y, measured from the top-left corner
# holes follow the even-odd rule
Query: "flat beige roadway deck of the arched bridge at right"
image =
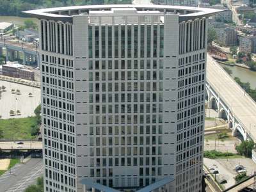
[(256, 138), (256, 103), (232, 79), (221, 66), (207, 54), (207, 81), (227, 104), (230, 111), (247, 129), (254, 141)]

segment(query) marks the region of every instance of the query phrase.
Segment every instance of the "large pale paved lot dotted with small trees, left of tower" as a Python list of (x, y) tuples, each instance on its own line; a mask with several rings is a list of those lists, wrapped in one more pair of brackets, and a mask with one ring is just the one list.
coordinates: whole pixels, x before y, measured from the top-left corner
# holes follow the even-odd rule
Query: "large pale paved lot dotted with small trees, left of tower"
[[(34, 110), (41, 103), (40, 89), (33, 88), (17, 83), (0, 81), (0, 86), (6, 86), (6, 91), (2, 92), (0, 97), (0, 115), (6, 118), (24, 118), (27, 116), (35, 116)], [(11, 90), (20, 90), (20, 95), (12, 94)], [(32, 93), (33, 97), (28, 97)], [(21, 115), (10, 116), (10, 110), (19, 110)]]

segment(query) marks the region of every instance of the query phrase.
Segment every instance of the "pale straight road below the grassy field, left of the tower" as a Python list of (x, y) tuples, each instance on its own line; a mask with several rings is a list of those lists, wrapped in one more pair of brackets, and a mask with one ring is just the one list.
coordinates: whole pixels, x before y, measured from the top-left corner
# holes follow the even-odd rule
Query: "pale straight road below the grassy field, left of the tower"
[[(10, 149), (42, 149), (42, 141), (22, 141), (24, 144), (17, 144), (19, 141), (0, 142), (2, 150)], [(22, 146), (22, 147), (18, 147)]]

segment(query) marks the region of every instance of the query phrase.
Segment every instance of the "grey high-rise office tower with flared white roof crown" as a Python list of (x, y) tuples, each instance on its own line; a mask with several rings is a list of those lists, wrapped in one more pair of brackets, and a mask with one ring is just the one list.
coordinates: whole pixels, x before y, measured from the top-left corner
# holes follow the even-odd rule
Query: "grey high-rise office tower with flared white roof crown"
[(26, 12), (39, 19), (45, 191), (153, 191), (164, 178), (174, 179), (168, 191), (202, 191), (207, 17), (216, 12)]

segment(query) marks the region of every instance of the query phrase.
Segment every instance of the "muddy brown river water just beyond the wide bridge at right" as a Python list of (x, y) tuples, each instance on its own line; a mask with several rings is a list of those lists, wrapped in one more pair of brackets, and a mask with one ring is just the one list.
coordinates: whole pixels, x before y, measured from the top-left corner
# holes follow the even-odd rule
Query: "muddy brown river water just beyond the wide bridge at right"
[(256, 88), (256, 72), (252, 71), (250, 69), (247, 68), (243, 68), (243, 67), (237, 67), (235, 66), (230, 66), (230, 65), (225, 65), (225, 64), (221, 64), (221, 67), (228, 67), (232, 70), (232, 77), (234, 79), (234, 77), (239, 77), (241, 79), (241, 81), (243, 83), (247, 83), (249, 82), (251, 84), (251, 89), (255, 89)]

